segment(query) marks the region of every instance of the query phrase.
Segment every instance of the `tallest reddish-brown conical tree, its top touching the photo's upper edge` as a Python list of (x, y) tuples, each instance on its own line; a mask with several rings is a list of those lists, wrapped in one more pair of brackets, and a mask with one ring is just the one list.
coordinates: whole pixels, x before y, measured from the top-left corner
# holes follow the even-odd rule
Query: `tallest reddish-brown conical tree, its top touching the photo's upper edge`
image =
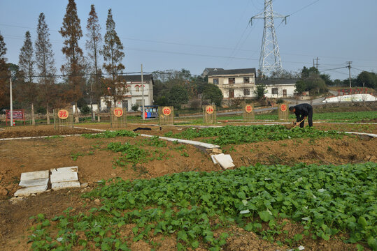
[(66, 91), (66, 98), (75, 102), (75, 120), (78, 122), (77, 102), (83, 96), (82, 88), (85, 84), (83, 78), (84, 57), (83, 50), (78, 46), (78, 40), (83, 36), (80, 26), (80, 19), (77, 15), (76, 3), (69, 0), (66, 6), (66, 15), (64, 15), (63, 26), (59, 31), (64, 40), (63, 54), (67, 62), (62, 66), (62, 73), (68, 75), (67, 81), (70, 89)]

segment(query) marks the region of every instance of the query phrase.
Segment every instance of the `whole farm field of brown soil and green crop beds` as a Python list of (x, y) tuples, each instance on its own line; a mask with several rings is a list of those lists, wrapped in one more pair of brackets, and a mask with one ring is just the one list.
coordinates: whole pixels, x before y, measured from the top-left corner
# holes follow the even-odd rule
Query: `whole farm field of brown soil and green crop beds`
[[(132, 132), (139, 126), (155, 137)], [(0, 249), (376, 250), (376, 139), (339, 133), (376, 125), (218, 126), (61, 133), (83, 134), (73, 137), (54, 136), (52, 126), (0, 130), (0, 138), (50, 136), (0, 141)], [(218, 144), (236, 168), (158, 136)], [(8, 201), (22, 172), (76, 165), (87, 188)]]

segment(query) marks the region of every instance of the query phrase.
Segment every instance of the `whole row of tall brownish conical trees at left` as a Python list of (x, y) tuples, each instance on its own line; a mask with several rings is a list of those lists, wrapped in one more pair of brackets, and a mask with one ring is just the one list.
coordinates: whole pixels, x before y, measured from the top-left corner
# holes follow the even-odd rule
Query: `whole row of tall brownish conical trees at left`
[[(15, 107), (31, 109), (31, 121), (35, 124), (34, 109), (45, 111), (50, 123), (49, 113), (53, 107), (75, 105), (75, 114), (83, 97), (88, 94), (90, 100), (99, 103), (100, 97), (106, 95), (115, 103), (122, 96), (122, 89), (115, 91), (115, 83), (120, 81), (125, 66), (124, 47), (113, 20), (112, 10), (108, 10), (106, 33), (101, 36), (101, 26), (92, 4), (87, 19), (87, 33), (84, 55), (78, 41), (83, 37), (80, 19), (74, 0), (69, 0), (66, 6), (62, 27), (59, 33), (64, 38), (62, 53), (65, 62), (60, 71), (62, 82), (57, 82), (55, 54), (50, 43), (50, 31), (44, 13), (38, 17), (37, 38), (33, 45), (31, 34), (24, 35), (24, 44), (20, 49), (18, 65), (7, 63), (6, 44), (0, 33), (0, 108), (9, 107), (10, 77), (14, 83)], [(100, 64), (101, 59), (103, 64)], [(78, 116), (76, 116), (78, 121)]]

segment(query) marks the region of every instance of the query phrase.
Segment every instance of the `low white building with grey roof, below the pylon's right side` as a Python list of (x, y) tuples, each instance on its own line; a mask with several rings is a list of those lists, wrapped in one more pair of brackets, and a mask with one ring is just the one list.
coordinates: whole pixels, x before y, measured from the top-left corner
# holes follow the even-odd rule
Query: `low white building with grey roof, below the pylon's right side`
[(257, 84), (265, 84), (267, 98), (290, 98), (294, 96), (296, 82), (299, 79), (263, 79), (257, 80)]

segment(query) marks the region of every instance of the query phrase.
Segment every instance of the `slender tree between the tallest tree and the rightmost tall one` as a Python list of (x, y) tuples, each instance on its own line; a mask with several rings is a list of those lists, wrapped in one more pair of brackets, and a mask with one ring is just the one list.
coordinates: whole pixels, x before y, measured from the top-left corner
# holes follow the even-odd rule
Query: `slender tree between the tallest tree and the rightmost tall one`
[[(103, 94), (101, 90), (100, 78), (101, 69), (99, 67), (99, 50), (101, 47), (101, 26), (99, 25), (98, 16), (94, 4), (90, 6), (89, 18), (87, 19), (87, 41), (85, 47), (87, 49), (88, 58), (90, 60), (90, 70), (93, 75), (90, 78), (90, 97), (97, 100), (100, 104), (99, 98)], [(92, 81), (94, 84), (92, 85)], [(93, 88), (94, 87), (94, 88)], [(93, 110), (93, 107), (92, 107)], [(93, 113), (92, 113), (93, 114)]]

